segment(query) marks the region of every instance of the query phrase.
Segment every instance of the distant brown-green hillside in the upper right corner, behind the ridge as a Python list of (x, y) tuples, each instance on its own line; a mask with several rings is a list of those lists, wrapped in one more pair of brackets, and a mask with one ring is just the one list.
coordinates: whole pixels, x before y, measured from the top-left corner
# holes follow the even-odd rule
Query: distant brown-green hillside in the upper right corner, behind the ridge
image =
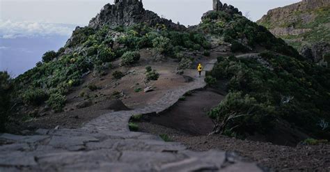
[(269, 10), (257, 22), (306, 58), (327, 65), (330, 53), (330, 1), (304, 0)]

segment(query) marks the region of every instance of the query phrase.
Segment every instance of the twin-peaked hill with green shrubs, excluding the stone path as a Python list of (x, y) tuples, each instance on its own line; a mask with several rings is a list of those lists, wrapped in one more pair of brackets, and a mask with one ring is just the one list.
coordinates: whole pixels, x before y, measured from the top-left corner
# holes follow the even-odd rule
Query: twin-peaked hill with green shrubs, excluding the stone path
[(205, 81), (228, 95), (207, 113), (216, 124), (213, 134), (244, 139), (281, 129), (294, 135), (292, 143), (329, 139), (329, 128), (320, 124), (330, 120), (329, 69), (305, 61), (220, 1), (189, 28), (145, 10), (141, 1), (107, 4), (58, 52), (46, 52), (35, 68), (10, 81), (15, 108), (8, 126), (12, 132), (80, 127), (110, 111), (145, 107), (168, 89), (189, 86), (196, 65), (216, 58)]

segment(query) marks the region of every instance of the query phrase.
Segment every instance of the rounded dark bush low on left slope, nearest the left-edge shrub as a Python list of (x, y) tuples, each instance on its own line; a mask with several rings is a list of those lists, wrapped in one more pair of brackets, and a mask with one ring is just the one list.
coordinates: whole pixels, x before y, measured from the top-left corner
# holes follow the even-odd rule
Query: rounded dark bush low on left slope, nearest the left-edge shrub
[(47, 100), (47, 93), (40, 88), (30, 88), (22, 94), (24, 103), (31, 105), (40, 105)]

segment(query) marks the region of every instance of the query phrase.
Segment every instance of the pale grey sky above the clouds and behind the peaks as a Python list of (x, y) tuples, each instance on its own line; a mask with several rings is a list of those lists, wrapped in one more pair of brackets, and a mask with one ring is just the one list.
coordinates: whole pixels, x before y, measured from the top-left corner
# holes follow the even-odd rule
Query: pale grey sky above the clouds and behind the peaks
[[(226, 0), (256, 21), (269, 9), (299, 0)], [(70, 35), (73, 26), (86, 26), (106, 3), (113, 0), (0, 0), (0, 38)], [(212, 0), (143, 0), (144, 7), (184, 25), (194, 25), (212, 9)], [(61, 25), (58, 25), (61, 24)]]

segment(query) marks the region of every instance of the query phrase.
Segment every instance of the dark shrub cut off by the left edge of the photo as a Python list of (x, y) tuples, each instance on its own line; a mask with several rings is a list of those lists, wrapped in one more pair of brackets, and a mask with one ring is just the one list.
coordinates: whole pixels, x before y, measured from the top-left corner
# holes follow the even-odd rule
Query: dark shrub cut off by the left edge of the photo
[(0, 132), (5, 132), (6, 122), (10, 114), (11, 92), (13, 83), (8, 72), (0, 72)]

